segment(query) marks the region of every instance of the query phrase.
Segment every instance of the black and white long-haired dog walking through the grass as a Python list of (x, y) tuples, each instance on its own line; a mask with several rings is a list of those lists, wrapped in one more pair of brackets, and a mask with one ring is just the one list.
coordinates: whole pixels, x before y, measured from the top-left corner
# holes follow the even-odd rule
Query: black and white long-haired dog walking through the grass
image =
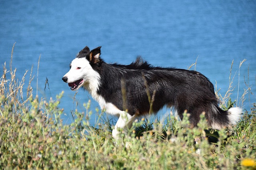
[(141, 57), (129, 65), (108, 64), (100, 57), (100, 48), (82, 49), (62, 80), (71, 90), (84, 88), (102, 110), (119, 117), (112, 130), (114, 139), (120, 129), (128, 133), (136, 117), (164, 106), (173, 107), (180, 119), (187, 111), (191, 128), (202, 113), (213, 129), (234, 125), (242, 115), (240, 107), (224, 111), (218, 106), (213, 84), (200, 72), (152, 66)]

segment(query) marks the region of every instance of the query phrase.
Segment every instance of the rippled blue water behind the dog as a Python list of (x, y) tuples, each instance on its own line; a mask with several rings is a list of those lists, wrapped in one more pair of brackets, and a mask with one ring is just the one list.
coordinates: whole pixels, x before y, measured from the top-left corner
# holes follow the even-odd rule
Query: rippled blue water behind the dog
[[(108, 63), (129, 64), (142, 55), (156, 66), (188, 68), (197, 59), (196, 70), (213, 84), (217, 82), (222, 96), (228, 90), (234, 60), (232, 99), (238, 95), (239, 105), (244, 88), (247, 89), (244, 77), (251, 92), (256, 92), (256, 1), (253, 0), (2, 0), (0, 64), (6, 62), (9, 67), (15, 42), (12, 67), (17, 68), (18, 78), (32, 65), (36, 76), (40, 56), (38, 95), (49, 100), (64, 91), (60, 103), (66, 113), (64, 123), (72, 122), (70, 110), (76, 106), (75, 92), (61, 78), (86, 45), (91, 49), (102, 46), (102, 58)], [(238, 68), (243, 59), (246, 61), (240, 68), (238, 90)], [(49, 89), (46, 85), (44, 90), (46, 77)], [(36, 79), (32, 84), (34, 95)], [(78, 110), (85, 111), (83, 103), (89, 99), (92, 98), (87, 92), (79, 90)], [(255, 96), (247, 95), (244, 108), (250, 109), (253, 102)], [(92, 101), (93, 112), (97, 106)], [(92, 125), (95, 119), (92, 116)]]

